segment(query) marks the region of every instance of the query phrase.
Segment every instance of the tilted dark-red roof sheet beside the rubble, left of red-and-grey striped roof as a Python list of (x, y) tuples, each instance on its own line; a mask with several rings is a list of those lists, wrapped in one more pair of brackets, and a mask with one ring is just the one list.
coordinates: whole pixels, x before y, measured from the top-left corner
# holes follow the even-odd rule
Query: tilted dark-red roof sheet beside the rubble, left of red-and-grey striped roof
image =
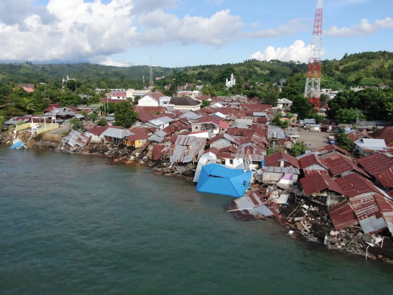
[(328, 212), (337, 231), (359, 224), (358, 218), (348, 200), (330, 207)]

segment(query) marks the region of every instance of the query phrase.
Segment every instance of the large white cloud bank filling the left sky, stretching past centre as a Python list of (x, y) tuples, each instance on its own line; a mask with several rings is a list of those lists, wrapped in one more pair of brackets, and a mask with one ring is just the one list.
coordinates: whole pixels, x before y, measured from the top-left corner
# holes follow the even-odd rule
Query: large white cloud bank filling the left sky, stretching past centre
[[(229, 9), (210, 17), (179, 17), (164, 11), (176, 9), (181, 0), (49, 0), (47, 6), (35, 2), (0, 1), (1, 60), (118, 64), (106, 57), (138, 46), (175, 43), (218, 47), (247, 38), (295, 34), (307, 28), (303, 20), (295, 19), (277, 28), (246, 32), (242, 18)], [(215, 0), (216, 4), (221, 2)]]

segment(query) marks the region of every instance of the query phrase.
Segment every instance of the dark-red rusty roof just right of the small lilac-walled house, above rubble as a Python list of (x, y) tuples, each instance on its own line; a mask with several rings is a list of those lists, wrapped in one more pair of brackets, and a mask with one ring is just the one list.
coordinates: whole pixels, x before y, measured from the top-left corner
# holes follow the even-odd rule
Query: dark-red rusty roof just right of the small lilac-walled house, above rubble
[(345, 192), (338, 185), (338, 183), (326, 176), (319, 173), (313, 173), (300, 179), (306, 196), (313, 193), (320, 192), (325, 189), (332, 190), (338, 194), (345, 195)]

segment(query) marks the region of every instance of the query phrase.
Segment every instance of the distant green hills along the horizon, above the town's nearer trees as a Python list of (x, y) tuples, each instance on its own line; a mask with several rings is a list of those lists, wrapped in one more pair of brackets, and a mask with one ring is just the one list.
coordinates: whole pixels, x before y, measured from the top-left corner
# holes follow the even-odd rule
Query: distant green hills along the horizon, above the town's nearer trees
[[(245, 60), (240, 63), (198, 65), (184, 68), (153, 67), (154, 84), (164, 86), (175, 83), (218, 85), (235, 76), (237, 85), (253, 86), (261, 83), (278, 83), (294, 74), (307, 74), (307, 64), (298, 61)], [(139, 87), (144, 76), (149, 83), (148, 65), (115, 67), (90, 63), (33, 64), (31, 62), (0, 64), (0, 79), (5, 83), (53, 83), (63, 77), (76, 78), (81, 83), (99, 85), (100, 81), (113, 87)], [(165, 77), (156, 81), (156, 77)], [(321, 87), (345, 89), (352, 86), (393, 87), (393, 53), (387, 51), (364, 52), (347, 55), (340, 60), (323, 60)], [(104, 84), (104, 83), (102, 83)]]

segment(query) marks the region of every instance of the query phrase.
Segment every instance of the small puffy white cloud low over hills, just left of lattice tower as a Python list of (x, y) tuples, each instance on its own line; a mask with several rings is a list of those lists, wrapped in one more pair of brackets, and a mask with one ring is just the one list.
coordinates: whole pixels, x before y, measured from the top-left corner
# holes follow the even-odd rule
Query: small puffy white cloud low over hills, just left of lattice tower
[[(308, 62), (310, 56), (310, 45), (306, 46), (304, 41), (296, 40), (292, 45), (288, 47), (278, 47), (274, 48), (273, 46), (267, 47), (263, 53), (258, 51), (251, 55), (252, 59), (258, 60), (271, 60), (271, 59), (279, 59), (281, 61), (300, 61), (300, 62)], [(324, 52), (321, 53), (323, 55)]]

